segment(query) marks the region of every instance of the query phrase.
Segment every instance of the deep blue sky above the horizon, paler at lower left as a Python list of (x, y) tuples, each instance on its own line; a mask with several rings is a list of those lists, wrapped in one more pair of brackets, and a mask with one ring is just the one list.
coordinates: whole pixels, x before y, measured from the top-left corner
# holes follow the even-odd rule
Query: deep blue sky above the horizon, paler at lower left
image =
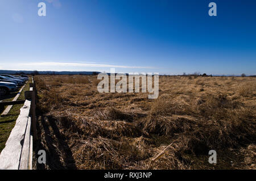
[(0, 69), (256, 74), (255, 0), (1, 0), (0, 24)]

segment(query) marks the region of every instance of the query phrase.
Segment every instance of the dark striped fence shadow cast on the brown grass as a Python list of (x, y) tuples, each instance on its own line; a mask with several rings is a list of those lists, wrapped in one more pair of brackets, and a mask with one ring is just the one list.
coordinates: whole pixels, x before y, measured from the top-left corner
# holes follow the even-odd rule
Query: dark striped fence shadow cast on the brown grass
[[(42, 116), (39, 120), (39, 133), (36, 145), (36, 153), (39, 150), (46, 151), (46, 165), (36, 162), (36, 169), (44, 170), (65, 170), (77, 169), (75, 160), (72, 156), (72, 151), (65, 140), (63, 134), (60, 133), (59, 127), (56, 124), (57, 120), (54, 117)], [(40, 155), (36, 155), (36, 160)]]

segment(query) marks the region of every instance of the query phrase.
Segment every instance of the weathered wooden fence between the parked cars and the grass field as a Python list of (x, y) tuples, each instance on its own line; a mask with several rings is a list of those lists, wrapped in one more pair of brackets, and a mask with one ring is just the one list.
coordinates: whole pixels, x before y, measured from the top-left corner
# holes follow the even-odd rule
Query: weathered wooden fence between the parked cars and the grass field
[(25, 98), (16, 102), (24, 102), (24, 106), (20, 108), (16, 124), (0, 154), (0, 169), (32, 170), (33, 140), (36, 139), (36, 87), (33, 78)]

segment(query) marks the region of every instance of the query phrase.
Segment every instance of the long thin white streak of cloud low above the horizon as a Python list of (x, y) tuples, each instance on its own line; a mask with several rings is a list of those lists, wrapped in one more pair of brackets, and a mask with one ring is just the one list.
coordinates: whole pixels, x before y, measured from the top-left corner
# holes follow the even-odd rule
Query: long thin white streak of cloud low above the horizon
[(20, 65), (26, 66), (71, 66), (71, 67), (94, 67), (94, 68), (125, 68), (125, 69), (155, 69), (149, 66), (126, 66), (126, 65), (109, 65), (109, 64), (92, 64), (92, 63), (73, 63), (73, 62), (28, 62)]

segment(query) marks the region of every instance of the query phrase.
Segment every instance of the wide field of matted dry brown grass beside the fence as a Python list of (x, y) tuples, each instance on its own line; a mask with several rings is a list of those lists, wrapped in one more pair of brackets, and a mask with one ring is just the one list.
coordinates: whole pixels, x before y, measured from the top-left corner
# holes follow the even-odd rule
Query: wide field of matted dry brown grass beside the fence
[(158, 99), (100, 94), (97, 76), (35, 82), (37, 169), (256, 169), (256, 78), (160, 76)]

